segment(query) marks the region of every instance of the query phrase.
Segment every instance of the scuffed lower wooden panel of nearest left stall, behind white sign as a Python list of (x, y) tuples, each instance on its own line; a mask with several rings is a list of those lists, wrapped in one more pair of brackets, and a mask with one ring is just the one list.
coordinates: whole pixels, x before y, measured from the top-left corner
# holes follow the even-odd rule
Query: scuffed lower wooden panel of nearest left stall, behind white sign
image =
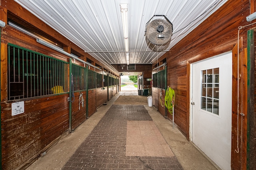
[(13, 102), (1, 102), (3, 169), (23, 166), (68, 131), (67, 97), (25, 101), (25, 113), (16, 116), (11, 113)]

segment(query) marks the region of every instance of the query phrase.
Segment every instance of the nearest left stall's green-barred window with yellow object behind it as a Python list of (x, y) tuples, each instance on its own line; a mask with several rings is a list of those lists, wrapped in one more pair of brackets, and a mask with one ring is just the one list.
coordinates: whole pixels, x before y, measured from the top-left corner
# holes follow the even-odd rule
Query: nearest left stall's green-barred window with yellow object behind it
[(68, 63), (8, 44), (8, 100), (68, 92)]

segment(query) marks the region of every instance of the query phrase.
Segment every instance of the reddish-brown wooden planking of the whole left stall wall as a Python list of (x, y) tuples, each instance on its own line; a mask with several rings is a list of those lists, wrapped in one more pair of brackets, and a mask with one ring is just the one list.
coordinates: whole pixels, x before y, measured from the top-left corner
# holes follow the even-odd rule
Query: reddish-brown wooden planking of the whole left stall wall
[[(35, 16), (21, 8), (13, 0), (1, 1), (0, 20), (7, 23), (7, 13), (22, 17), (22, 22), (31, 22), (48, 35), (53, 35), (60, 42), (72, 45), (72, 49), (79, 51), (73, 43), (53, 29), (42, 23)], [(40, 43), (36, 39), (18, 31), (6, 24), (1, 29), (1, 134), (2, 134), (2, 169), (26, 168), (40, 153), (47, 150), (69, 130), (69, 102), (68, 93), (48, 95), (37, 98), (24, 99), (25, 113), (12, 116), (11, 104), (16, 101), (7, 101), (8, 77), (7, 77), (7, 44), (12, 43), (50, 57), (69, 62), (69, 57), (54, 51)], [(70, 49), (67, 47), (66, 49)], [(70, 50), (69, 50), (70, 51)], [(88, 54), (85, 54), (88, 56)], [(83, 57), (81, 57), (83, 58)], [(85, 57), (86, 58), (86, 57)], [(98, 63), (96, 59), (95, 63)], [(84, 64), (76, 62), (83, 66)], [(72, 129), (75, 129), (86, 120), (86, 91), (81, 91), (84, 98), (84, 107), (79, 107), (79, 92), (75, 92), (75, 101), (72, 103)], [(88, 92), (88, 115), (96, 112), (97, 106), (107, 100), (107, 88), (96, 94), (96, 89)], [(97, 96), (96, 96), (97, 95)], [(111, 96), (110, 96), (111, 98)], [(96, 101), (96, 99), (100, 99)], [(101, 100), (102, 99), (102, 100)], [(104, 100), (105, 99), (105, 100)]]

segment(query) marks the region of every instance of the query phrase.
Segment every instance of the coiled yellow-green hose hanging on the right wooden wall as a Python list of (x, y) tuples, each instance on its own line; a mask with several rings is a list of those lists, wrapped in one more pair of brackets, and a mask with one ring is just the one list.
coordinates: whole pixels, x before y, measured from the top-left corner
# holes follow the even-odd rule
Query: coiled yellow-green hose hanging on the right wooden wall
[[(161, 96), (160, 96), (160, 102), (161, 102), (161, 106), (164, 107), (164, 105), (162, 105)], [(171, 113), (171, 115), (173, 112), (174, 103), (175, 103), (175, 92), (172, 88), (168, 87), (166, 89), (166, 93), (165, 93), (165, 97), (164, 97), (164, 104), (165, 104), (166, 108), (168, 109), (168, 111)]]

